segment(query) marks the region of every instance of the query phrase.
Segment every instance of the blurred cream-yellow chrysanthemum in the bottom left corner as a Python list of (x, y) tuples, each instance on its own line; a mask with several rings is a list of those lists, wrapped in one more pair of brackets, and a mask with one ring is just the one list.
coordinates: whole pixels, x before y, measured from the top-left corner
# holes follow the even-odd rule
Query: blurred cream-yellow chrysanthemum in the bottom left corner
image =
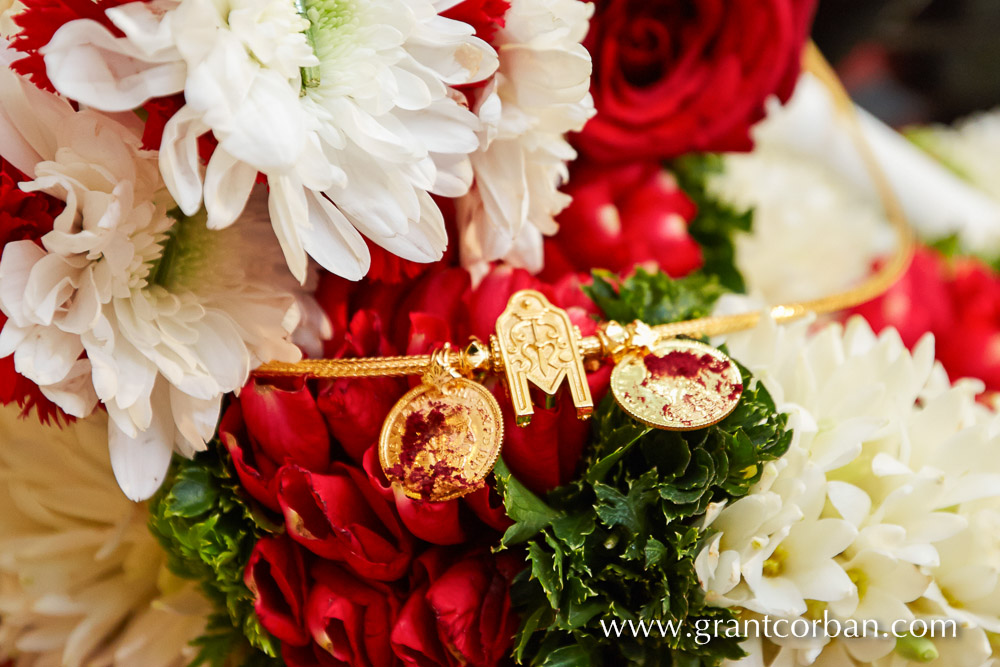
[(106, 421), (59, 429), (0, 408), (0, 661), (14, 667), (182, 667), (204, 632), (208, 601), (169, 575), (146, 506), (115, 486)]

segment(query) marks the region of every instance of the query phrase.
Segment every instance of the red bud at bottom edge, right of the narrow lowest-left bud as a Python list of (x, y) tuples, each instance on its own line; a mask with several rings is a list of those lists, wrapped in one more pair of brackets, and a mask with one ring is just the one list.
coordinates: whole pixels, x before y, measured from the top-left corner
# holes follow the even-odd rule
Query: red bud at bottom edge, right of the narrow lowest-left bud
[(317, 563), (312, 574), (316, 583), (309, 592), (306, 624), (314, 652), (326, 653), (337, 665), (397, 664), (389, 632), (400, 605), (392, 591), (377, 582), (360, 581), (333, 563)]

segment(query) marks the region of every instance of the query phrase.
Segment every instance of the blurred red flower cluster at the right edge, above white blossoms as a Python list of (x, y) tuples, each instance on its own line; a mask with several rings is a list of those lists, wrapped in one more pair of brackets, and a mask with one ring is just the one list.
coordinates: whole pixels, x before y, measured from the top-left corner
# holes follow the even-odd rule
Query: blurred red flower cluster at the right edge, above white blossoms
[(1000, 274), (979, 260), (918, 250), (902, 280), (854, 312), (876, 331), (895, 327), (908, 347), (934, 334), (949, 377), (1000, 391)]

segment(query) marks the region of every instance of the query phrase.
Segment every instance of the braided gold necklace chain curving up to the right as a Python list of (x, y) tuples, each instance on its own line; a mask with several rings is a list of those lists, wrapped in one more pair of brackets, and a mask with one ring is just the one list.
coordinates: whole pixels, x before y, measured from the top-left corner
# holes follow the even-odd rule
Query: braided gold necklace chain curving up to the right
[[(771, 318), (778, 322), (787, 322), (806, 316), (809, 313), (832, 313), (860, 305), (878, 297), (899, 280), (909, 268), (916, 245), (913, 231), (910, 229), (892, 187), (871, 146), (864, 137), (860, 120), (847, 91), (834, 73), (833, 68), (812, 42), (806, 48), (803, 60), (804, 68), (823, 83), (831, 97), (835, 108), (847, 123), (851, 139), (865, 162), (872, 178), (879, 199), (885, 209), (898, 239), (896, 251), (876, 273), (862, 284), (843, 292), (813, 299), (778, 306), (772, 306), (768, 311)], [(763, 311), (741, 313), (737, 315), (722, 315), (705, 317), (687, 322), (674, 322), (651, 327), (659, 339), (676, 336), (716, 336), (752, 329), (760, 321)], [(580, 341), (580, 350), (588, 359), (604, 358), (611, 352), (607, 341), (599, 336), (589, 336)], [(469, 350), (447, 350), (448, 363), (456, 366), (465, 365), (470, 369), (500, 372), (501, 364), (495, 358), (482, 352), (482, 346), (473, 344)], [(422, 375), (432, 364), (432, 356), (428, 354), (402, 357), (369, 357), (362, 359), (308, 359), (296, 363), (271, 362), (259, 367), (254, 374), (264, 377), (308, 376), (317, 378), (346, 377), (387, 377), (404, 375)]]

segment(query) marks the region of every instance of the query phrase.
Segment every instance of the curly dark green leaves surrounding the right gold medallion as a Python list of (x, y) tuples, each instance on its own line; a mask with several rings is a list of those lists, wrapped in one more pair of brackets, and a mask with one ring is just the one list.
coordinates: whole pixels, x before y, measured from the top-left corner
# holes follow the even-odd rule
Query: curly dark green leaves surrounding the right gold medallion
[[(594, 284), (609, 316), (650, 324), (704, 314), (718, 295), (711, 282), (642, 273), (617, 293), (602, 276)], [(498, 490), (515, 521), (502, 543), (522, 545), (529, 561), (512, 593), (522, 618), (518, 662), (694, 666), (742, 655), (739, 638), (696, 632), (733, 618), (705, 605), (694, 569), (707, 539), (699, 519), (709, 504), (746, 495), (763, 463), (785, 453), (791, 433), (763, 385), (741, 371), (746, 390), (736, 410), (698, 431), (651, 429), (608, 396), (582, 474), (544, 499), (498, 462)], [(601, 621), (672, 622), (680, 631), (608, 638)]]

